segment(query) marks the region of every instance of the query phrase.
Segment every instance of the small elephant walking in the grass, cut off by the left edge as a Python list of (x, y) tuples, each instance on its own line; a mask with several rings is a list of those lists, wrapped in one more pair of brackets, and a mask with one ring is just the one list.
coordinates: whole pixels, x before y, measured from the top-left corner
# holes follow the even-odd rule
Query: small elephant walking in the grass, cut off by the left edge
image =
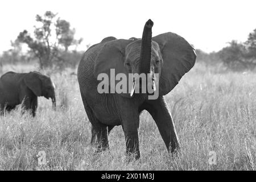
[(1, 114), (22, 104), (24, 110), (30, 110), (35, 117), (40, 96), (51, 98), (52, 107), (56, 109), (55, 85), (48, 76), (39, 72), (7, 72), (0, 77)]

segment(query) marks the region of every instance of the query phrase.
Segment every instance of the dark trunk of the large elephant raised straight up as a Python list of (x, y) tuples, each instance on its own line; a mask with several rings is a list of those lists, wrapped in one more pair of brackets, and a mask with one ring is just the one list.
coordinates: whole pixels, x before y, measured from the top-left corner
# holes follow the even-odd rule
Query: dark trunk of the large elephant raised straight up
[(147, 20), (141, 42), (141, 61), (139, 64), (139, 71), (141, 73), (150, 73), (151, 54), (152, 54), (152, 27), (154, 23), (151, 19)]

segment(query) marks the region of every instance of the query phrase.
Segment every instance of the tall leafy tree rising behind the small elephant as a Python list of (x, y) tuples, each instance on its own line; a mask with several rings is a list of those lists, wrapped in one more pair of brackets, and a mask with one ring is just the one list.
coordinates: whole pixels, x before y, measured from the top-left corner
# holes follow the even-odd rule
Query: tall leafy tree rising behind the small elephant
[(56, 19), (56, 16), (51, 11), (46, 11), (43, 16), (36, 15), (36, 22), (40, 26), (34, 26), (34, 38), (27, 30), (20, 32), (17, 38), (20, 43), (27, 44), (30, 52), (39, 59), (41, 69), (53, 64), (63, 64), (63, 49), (67, 52), (69, 46), (78, 42), (74, 38), (75, 28), (71, 29), (69, 22)]

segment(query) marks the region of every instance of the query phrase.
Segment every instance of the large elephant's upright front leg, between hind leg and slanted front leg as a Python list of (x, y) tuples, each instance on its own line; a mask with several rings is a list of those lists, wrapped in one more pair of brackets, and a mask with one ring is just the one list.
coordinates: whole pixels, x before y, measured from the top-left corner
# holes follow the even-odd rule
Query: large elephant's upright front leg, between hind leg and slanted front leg
[(117, 96), (115, 99), (121, 124), (126, 139), (126, 154), (127, 156), (134, 155), (135, 159), (141, 157), (139, 151), (139, 112), (137, 103), (129, 98)]

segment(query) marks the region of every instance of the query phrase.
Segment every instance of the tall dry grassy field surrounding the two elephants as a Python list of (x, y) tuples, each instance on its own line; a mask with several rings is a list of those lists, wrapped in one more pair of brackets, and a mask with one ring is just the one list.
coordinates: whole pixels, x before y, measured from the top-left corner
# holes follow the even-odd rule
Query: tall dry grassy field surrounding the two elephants
[[(3, 72), (34, 71), (33, 65), (5, 66)], [(196, 64), (166, 96), (183, 154), (168, 159), (151, 116), (141, 115), (141, 159), (125, 162), (125, 137), (117, 126), (110, 150), (96, 154), (90, 146), (90, 123), (82, 105), (76, 70), (52, 73), (57, 111), (39, 99), (35, 118), (20, 107), (0, 118), (0, 170), (255, 170), (256, 73), (234, 73), (220, 66)], [(0, 73), (0, 75), (2, 75)], [(39, 151), (46, 165), (38, 165)], [(209, 165), (209, 152), (217, 164)]]

